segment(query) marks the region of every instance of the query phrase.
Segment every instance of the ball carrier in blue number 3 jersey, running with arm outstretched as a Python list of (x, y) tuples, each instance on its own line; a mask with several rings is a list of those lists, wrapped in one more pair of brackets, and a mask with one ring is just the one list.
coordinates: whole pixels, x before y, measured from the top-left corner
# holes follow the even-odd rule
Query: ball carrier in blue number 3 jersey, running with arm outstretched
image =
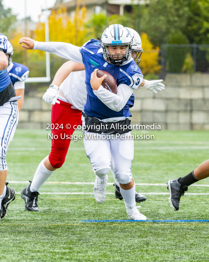
[[(98, 203), (105, 201), (107, 174), (112, 162), (129, 219), (146, 220), (146, 216), (136, 207), (136, 186), (131, 173), (134, 143), (128, 127), (131, 116), (129, 108), (134, 103), (133, 90), (144, 86), (146, 81), (131, 57), (130, 31), (122, 25), (114, 24), (103, 32), (101, 42), (91, 39), (82, 47), (69, 43), (38, 42), (27, 37), (19, 40), (19, 44), (22, 43), (26, 44), (22, 45), (26, 49), (48, 51), (85, 65), (87, 100), (82, 120), (83, 125), (89, 128), (85, 130), (84, 145), (96, 174), (94, 197)], [(101, 86), (106, 76), (98, 78), (97, 70), (109, 72), (115, 78), (117, 94)], [(96, 130), (94, 124), (101, 123), (105, 123), (106, 129)], [(122, 125), (123, 129), (116, 128), (118, 125)], [(93, 138), (95, 133), (98, 139)]]

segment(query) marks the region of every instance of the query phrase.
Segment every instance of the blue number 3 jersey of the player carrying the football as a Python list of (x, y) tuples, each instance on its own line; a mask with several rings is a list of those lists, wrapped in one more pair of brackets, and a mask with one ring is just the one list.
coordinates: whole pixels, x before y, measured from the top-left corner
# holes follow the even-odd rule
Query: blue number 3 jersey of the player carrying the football
[(106, 106), (94, 93), (90, 84), (91, 73), (98, 68), (110, 73), (116, 80), (117, 86), (126, 84), (133, 89), (137, 89), (140, 85), (142, 72), (136, 65), (134, 60), (124, 65), (112, 65), (108, 63), (102, 55), (101, 43), (98, 40), (91, 39), (80, 48), (86, 72), (86, 89), (87, 100), (84, 105), (84, 112), (89, 117), (96, 117), (99, 119), (113, 118), (113, 117), (131, 117), (129, 108), (134, 104), (134, 95), (130, 96), (128, 102), (122, 110), (116, 112)]

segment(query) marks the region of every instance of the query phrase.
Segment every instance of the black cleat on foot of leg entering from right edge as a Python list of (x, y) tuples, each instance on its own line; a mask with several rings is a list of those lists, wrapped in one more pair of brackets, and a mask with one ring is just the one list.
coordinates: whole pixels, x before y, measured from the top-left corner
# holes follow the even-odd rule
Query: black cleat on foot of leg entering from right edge
[(173, 180), (169, 180), (167, 183), (167, 188), (170, 191), (170, 197), (169, 199), (169, 203), (171, 203), (171, 207), (175, 210), (178, 211), (179, 210), (179, 202), (180, 202), (180, 198), (181, 196), (184, 195), (185, 191), (188, 191), (188, 186), (181, 186), (178, 182), (179, 178), (173, 179)]

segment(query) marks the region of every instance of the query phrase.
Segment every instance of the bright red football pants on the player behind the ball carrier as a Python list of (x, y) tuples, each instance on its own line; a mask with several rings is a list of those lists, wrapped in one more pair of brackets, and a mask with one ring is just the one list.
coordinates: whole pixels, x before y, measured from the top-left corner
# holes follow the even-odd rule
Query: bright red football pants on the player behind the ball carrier
[[(64, 134), (65, 137), (66, 135), (72, 135), (77, 125), (82, 125), (82, 111), (71, 108), (72, 105), (69, 103), (63, 102), (59, 99), (57, 100), (60, 101), (60, 104), (55, 103), (55, 105), (52, 105), (51, 111), (51, 122), (54, 124), (54, 129), (52, 129), (53, 139), (51, 152), (49, 154), (49, 162), (54, 168), (59, 168), (63, 165), (70, 145), (70, 139), (61, 139), (61, 134), (62, 137), (64, 137)], [(58, 128), (62, 124), (63, 129), (55, 129), (57, 128), (56, 124), (58, 124)], [(71, 125), (70, 129), (66, 128), (67, 124)], [(58, 136), (57, 139), (54, 139), (55, 135)]]

